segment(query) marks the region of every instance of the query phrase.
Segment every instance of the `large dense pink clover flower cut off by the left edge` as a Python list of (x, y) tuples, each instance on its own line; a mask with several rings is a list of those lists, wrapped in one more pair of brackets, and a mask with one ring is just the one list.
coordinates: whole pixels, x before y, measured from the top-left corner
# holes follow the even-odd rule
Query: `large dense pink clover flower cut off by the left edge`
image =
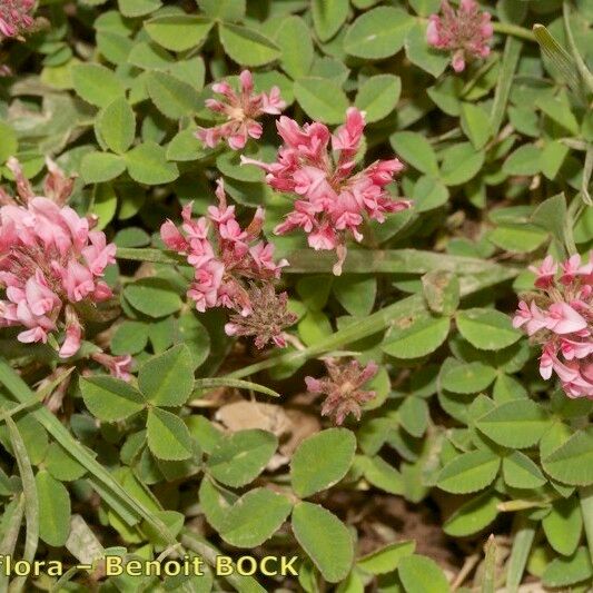
[(79, 310), (109, 299), (111, 289), (100, 280), (115, 261), (116, 246), (103, 233), (91, 230), (95, 220), (65, 206), (72, 190), (48, 160), (46, 196), (36, 196), (18, 161), (8, 167), (17, 184), (17, 198), (0, 188), (0, 326), (21, 326), (22, 343), (47, 343), (63, 330), (62, 358), (80, 348)]

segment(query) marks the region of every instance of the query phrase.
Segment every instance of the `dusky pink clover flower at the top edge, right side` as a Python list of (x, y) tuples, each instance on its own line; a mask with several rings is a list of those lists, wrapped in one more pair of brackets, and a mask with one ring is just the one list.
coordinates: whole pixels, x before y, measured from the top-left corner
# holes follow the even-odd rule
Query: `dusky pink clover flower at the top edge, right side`
[(481, 11), (475, 0), (461, 0), (456, 11), (443, 0), (441, 12), (442, 16), (428, 18), (426, 40), (437, 49), (453, 52), (452, 66), (456, 72), (462, 72), (472, 58), (490, 55), (491, 16)]

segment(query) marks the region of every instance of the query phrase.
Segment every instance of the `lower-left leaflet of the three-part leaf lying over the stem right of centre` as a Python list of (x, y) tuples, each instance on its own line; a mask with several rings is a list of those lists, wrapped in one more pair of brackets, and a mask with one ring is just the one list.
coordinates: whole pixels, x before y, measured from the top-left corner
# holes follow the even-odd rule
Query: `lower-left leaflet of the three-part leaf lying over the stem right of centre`
[(451, 322), (447, 317), (418, 317), (408, 327), (394, 326), (382, 349), (396, 358), (418, 358), (436, 350), (447, 338)]

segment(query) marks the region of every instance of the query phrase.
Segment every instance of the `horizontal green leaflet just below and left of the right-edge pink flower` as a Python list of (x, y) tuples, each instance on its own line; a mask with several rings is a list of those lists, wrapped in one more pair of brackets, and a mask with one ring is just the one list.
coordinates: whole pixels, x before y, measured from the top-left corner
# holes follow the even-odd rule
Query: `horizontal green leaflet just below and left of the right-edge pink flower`
[(550, 419), (535, 402), (512, 399), (480, 417), (476, 427), (500, 445), (525, 448), (542, 438), (550, 427)]

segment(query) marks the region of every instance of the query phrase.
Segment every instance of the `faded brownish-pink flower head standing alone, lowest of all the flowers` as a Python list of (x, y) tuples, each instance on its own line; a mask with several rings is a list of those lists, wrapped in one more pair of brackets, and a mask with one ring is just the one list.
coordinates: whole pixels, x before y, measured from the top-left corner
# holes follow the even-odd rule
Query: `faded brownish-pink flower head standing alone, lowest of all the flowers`
[(375, 392), (366, 392), (360, 387), (377, 373), (377, 365), (369, 362), (365, 367), (358, 360), (337, 363), (325, 362), (327, 377), (316, 379), (305, 377), (307, 389), (315, 394), (325, 394), (322, 408), (323, 416), (333, 416), (337, 425), (343, 424), (348, 414), (357, 421), (363, 413), (362, 406), (375, 397)]

